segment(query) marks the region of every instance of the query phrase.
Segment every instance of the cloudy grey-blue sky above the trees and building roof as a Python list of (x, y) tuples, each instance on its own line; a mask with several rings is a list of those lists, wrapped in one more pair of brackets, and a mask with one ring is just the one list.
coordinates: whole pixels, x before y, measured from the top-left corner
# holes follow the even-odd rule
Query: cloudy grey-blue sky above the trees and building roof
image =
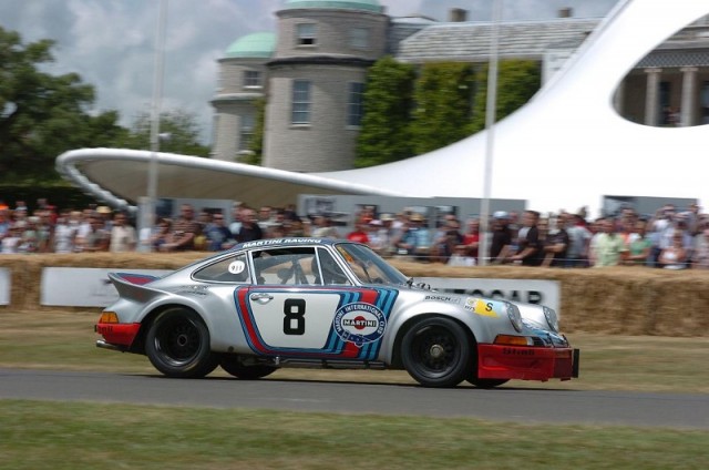
[[(618, 0), (506, 0), (505, 20), (548, 19), (561, 8), (574, 17), (604, 17)], [(210, 144), (217, 59), (236, 39), (275, 31), (286, 0), (167, 0), (162, 109), (194, 113)], [(393, 17), (420, 13), (445, 21), (451, 8), (469, 20), (491, 19), (491, 0), (380, 0)], [(130, 125), (153, 96), (158, 0), (0, 0), (0, 25), (23, 42), (56, 41), (51, 73), (79, 73), (96, 89), (96, 111), (117, 110)]]

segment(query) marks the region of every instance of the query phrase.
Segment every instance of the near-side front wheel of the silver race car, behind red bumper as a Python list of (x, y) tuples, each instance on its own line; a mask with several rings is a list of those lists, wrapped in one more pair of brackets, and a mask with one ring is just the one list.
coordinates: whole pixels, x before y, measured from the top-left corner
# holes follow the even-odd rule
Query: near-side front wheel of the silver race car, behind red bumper
[(403, 337), (403, 367), (424, 387), (455, 387), (469, 374), (470, 344), (467, 334), (456, 321), (427, 318)]

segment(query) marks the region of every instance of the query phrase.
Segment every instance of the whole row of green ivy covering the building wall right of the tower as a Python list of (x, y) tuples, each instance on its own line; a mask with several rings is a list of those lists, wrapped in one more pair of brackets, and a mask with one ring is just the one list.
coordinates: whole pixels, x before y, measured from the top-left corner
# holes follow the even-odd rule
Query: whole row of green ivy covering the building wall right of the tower
[[(537, 62), (501, 61), (496, 120), (523, 106), (540, 85)], [(487, 65), (475, 70), (459, 62), (427, 63), (414, 80), (410, 65), (382, 59), (368, 79), (356, 166), (431, 152), (483, 130), (486, 93)]]

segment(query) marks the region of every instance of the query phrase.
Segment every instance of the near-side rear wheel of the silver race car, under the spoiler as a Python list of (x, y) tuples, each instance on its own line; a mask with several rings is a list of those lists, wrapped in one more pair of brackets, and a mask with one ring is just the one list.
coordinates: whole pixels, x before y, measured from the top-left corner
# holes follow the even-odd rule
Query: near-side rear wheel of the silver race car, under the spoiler
[(167, 377), (202, 378), (219, 365), (209, 348), (209, 330), (186, 308), (171, 308), (153, 320), (145, 338), (145, 354)]

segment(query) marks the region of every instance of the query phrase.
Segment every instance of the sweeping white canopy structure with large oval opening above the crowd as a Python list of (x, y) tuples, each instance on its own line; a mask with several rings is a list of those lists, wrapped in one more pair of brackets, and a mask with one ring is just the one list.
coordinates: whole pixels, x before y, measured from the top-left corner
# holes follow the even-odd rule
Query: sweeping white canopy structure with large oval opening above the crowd
[[(709, 201), (707, 125), (656, 127), (613, 106), (616, 89), (645, 55), (707, 14), (706, 0), (620, 0), (564, 68), (516, 113), (495, 125), (491, 196), (537, 211), (594, 213), (603, 195)], [(306, 194), (483, 197), (486, 132), (387, 165), (301, 174), (148, 151), (84, 149), (58, 168), (104, 200), (145, 194), (160, 162), (158, 194), (281, 204)], [(315, 143), (314, 143), (315, 144)]]

